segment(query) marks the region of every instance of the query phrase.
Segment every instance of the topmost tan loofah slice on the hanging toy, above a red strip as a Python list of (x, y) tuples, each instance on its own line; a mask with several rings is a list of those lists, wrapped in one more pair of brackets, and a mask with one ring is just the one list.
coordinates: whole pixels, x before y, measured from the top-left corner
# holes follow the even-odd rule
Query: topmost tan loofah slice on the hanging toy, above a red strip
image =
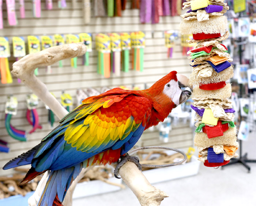
[(197, 22), (197, 20), (184, 21), (180, 23), (181, 34), (216, 34), (226, 31), (227, 18), (226, 16), (212, 16), (208, 21)]

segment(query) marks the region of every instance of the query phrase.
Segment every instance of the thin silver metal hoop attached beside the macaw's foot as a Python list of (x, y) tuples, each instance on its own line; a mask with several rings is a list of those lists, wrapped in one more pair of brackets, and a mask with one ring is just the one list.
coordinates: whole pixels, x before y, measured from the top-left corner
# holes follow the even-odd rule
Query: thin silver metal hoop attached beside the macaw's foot
[(184, 159), (182, 159), (180, 162), (176, 162), (176, 163), (172, 163), (172, 164), (141, 164), (142, 167), (150, 167), (150, 168), (159, 168), (159, 167), (171, 167), (171, 166), (176, 166), (178, 164), (182, 164), (187, 160), (187, 155), (178, 150), (178, 149), (173, 149), (173, 148), (169, 148), (169, 147), (139, 147), (136, 149), (133, 149), (131, 152), (129, 152), (129, 155), (132, 155), (133, 153), (139, 151), (139, 150), (143, 150), (143, 149), (166, 149), (166, 150), (172, 150), (178, 153), (181, 153), (184, 156)]

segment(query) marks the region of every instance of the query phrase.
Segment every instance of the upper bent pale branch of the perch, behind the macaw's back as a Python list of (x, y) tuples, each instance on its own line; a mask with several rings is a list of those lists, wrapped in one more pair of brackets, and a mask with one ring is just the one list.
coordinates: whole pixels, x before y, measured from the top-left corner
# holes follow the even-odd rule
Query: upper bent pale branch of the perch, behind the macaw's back
[(21, 79), (61, 119), (68, 111), (48, 92), (46, 85), (34, 75), (34, 70), (37, 67), (49, 66), (62, 59), (74, 58), (85, 53), (86, 46), (82, 42), (50, 47), (35, 54), (28, 54), (15, 62), (12, 65), (12, 74)]

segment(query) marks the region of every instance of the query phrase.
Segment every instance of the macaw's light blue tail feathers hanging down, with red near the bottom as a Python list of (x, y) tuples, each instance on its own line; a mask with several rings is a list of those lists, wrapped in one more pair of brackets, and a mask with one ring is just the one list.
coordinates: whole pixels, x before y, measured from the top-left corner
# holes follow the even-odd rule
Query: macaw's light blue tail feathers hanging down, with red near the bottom
[(51, 171), (38, 206), (61, 206), (67, 190), (82, 170), (82, 164)]

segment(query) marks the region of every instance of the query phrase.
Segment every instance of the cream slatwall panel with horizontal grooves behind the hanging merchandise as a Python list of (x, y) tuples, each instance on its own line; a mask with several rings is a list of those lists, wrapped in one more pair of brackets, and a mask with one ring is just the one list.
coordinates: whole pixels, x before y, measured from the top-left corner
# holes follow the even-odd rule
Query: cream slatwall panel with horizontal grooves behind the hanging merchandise
[[(42, 1), (42, 7), (44, 7)], [(4, 3), (5, 4), (5, 3)], [(16, 7), (17, 8), (17, 7)], [(52, 73), (46, 74), (45, 68), (39, 68), (38, 78), (43, 81), (48, 89), (53, 92), (60, 101), (61, 90), (70, 93), (73, 99), (76, 99), (76, 89), (86, 89), (89, 86), (93, 88), (100, 88), (102, 86), (109, 86), (114, 88), (120, 85), (126, 85), (131, 88), (131, 85), (140, 86), (144, 88), (146, 82), (151, 86), (159, 78), (163, 77), (169, 71), (177, 70), (178, 73), (189, 76), (190, 68), (188, 59), (182, 57), (181, 46), (176, 44), (174, 47), (174, 54), (172, 59), (167, 59), (164, 46), (163, 31), (168, 29), (178, 29), (180, 17), (164, 17), (160, 19), (160, 23), (140, 24), (139, 11), (131, 10), (130, 2), (128, 1), (127, 10), (123, 12), (123, 17), (115, 18), (92, 18), (91, 23), (87, 26), (83, 24), (82, 1), (77, 1), (74, 8), (72, 8), (71, 1), (67, 1), (66, 9), (57, 9), (57, 1), (53, 1), (53, 10), (42, 9), (42, 17), (34, 19), (31, 9), (31, 1), (25, 0), (26, 19), (18, 19), (18, 26), (11, 27), (7, 25), (7, 12), (4, 7), (4, 29), (0, 30), (0, 36), (9, 37), (11, 43), (12, 36), (27, 36), (27, 35), (54, 35), (54, 34), (79, 34), (81, 32), (91, 32), (93, 37), (98, 32), (131, 32), (144, 31), (146, 33), (146, 48), (144, 56), (144, 71), (129, 71), (128, 73), (121, 73), (120, 77), (112, 75), (109, 79), (97, 74), (97, 53), (95, 50), (90, 53), (90, 66), (82, 65), (82, 58), (78, 58), (78, 68), (72, 69), (70, 67), (70, 60), (63, 61), (63, 68), (59, 68), (58, 64), (52, 66)], [(18, 9), (16, 10), (19, 15)], [(94, 40), (94, 38), (93, 38)], [(94, 45), (95, 46), (95, 45)], [(12, 45), (11, 45), (12, 47)], [(131, 60), (131, 59), (130, 59)], [(10, 58), (10, 65), (14, 62), (14, 58)], [(131, 66), (131, 64), (130, 64)], [(8, 94), (13, 94), (18, 98), (18, 114), (11, 120), (12, 125), (17, 128), (29, 131), (31, 126), (27, 123), (26, 115), (26, 94), (30, 90), (25, 85), (17, 83), (14, 77), (14, 83), (10, 85), (0, 84), (0, 139), (8, 141), (10, 152), (0, 153), (0, 168), (10, 159), (26, 152), (28, 149), (38, 144), (40, 140), (52, 128), (48, 124), (48, 111), (44, 104), (39, 102), (38, 114), (39, 120), (43, 129), (37, 130), (35, 133), (27, 136), (27, 142), (20, 142), (12, 139), (7, 135), (4, 126), (4, 107)], [(54, 123), (56, 127), (58, 123)], [(186, 129), (184, 129), (186, 128)], [(174, 127), (169, 138), (168, 143), (162, 143), (159, 140), (157, 130), (153, 132), (144, 132), (142, 138), (138, 142), (139, 145), (166, 145), (174, 148), (187, 148), (193, 145), (192, 130), (189, 125), (178, 125)], [(12, 174), (13, 171), (0, 170), (0, 175)]]

